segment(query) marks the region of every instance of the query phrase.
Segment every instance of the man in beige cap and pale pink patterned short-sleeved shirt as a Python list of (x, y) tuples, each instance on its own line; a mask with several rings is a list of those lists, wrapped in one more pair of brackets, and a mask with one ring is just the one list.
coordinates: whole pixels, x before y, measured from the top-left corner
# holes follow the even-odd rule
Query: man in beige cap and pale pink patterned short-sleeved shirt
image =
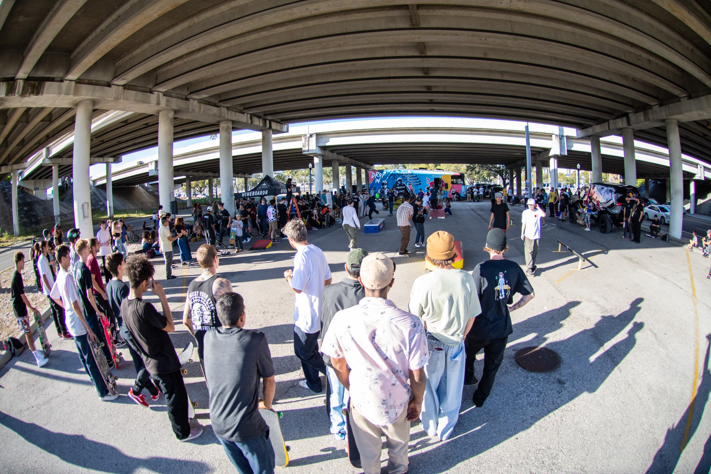
[(351, 395), (348, 416), (365, 474), (380, 474), (383, 435), (387, 473), (407, 473), (410, 421), (422, 411), (427, 335), (417, 316), (387, 299), (394, 275), (385, 254), (363, 258), (365, 298), (333, 316), (321, 348)]

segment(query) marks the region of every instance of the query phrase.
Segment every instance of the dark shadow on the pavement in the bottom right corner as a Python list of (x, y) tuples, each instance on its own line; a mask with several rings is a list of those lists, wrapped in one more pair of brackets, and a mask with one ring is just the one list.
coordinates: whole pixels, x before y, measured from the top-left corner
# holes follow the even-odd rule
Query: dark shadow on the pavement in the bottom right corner
[[(679, 421), (670, 429), (667, 430), (664, 436), (664, 443), (654, 455), (652, 464), (647, 469), (647, 474), (656, 473), (672, 473), (674, 472), (681, 453), (682, 446), (694, 436), (701, 417), (704, 414), (704, 409), (709, 400), (711, 393), (711, 370), (709, 370), (709, 354), (711, 351), (711, 335), (706, 336), (709, 343), (706, 345), (706, 357), (704, 358), (704, 370), (701, 374), (701, 384), (696, 392), (695, 397), (689, 403), (684, 414)], [(689, 419), (689, 413), (693, 411), (692, 419)], [(710, 438), (711, 440), (711, 438)], [(711, 468), (711, 441), (706, 441), (704, 453), (695, 470), (696, 473), (708, 473)]]

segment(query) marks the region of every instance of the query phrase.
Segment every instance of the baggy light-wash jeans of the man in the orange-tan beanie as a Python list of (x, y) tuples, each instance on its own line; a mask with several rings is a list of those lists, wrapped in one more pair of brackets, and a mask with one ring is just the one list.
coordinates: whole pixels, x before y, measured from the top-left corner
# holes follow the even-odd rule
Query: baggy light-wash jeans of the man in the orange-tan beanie
[(419, 419), (429, 436), (437, 435), (444, 441), (459, 419), (464, 387), (464, 341), (447, 345), (428, 334), (427, 345), (429, 362), (424, 366), (427, 385)]

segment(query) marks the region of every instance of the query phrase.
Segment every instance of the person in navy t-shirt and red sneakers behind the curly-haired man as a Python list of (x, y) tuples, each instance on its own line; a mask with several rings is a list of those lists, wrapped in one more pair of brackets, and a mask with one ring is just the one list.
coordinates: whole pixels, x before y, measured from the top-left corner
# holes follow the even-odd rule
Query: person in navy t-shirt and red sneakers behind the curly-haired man
[(106, 267), (112, 274), (112, 279), (106, 284), (107, 303), (114, 312), (117, 321), (119, 322), (119, 332), (121, 337), (126, 341), (129, 348), (129, 354), (134, 362), (136, 369), (136, 381), (134, 386), (129, 389), (129, 398), (139, 405), (148, 406), (148, 402), (141, 392), (147, 389), (151, 394), (151, 399), (157, 400), (161, 396), (161, 392), (156, 385), (151, 381), (151, 375), (146, 370), (146, 365), (139, 352), (139, 347), (129, 333), (126, 325), (123, 323), (121, 316), (121, 303), (129, 296), (129, 287), (124, 283), (124, 255), (119, 252), (114, 252), (106, 258)]

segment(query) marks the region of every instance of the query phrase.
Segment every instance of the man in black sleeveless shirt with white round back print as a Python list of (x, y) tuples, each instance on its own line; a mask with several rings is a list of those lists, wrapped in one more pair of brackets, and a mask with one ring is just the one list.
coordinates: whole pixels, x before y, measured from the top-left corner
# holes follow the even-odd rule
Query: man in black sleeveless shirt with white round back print
[(213, 245), (202, 244), (198, 248), (197, 259), (203, 273), (188, 285), (183, 324), (195, 336), (198, 343), (198, 357), (203, 365), (205, 331), (221, 325), (215, 310), (215, 300), (223, 293), (232, 291), (232, 284), (228, 279), (217, 276), (220, 260), (218, 251)]

